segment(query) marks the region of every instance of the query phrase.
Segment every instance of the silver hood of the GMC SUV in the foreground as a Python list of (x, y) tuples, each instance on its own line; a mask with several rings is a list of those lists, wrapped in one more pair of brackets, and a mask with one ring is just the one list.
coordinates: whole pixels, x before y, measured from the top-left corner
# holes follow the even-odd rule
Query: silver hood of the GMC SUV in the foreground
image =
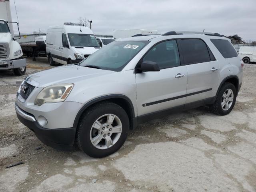
[(60, 83), (75, 84), (80, 80), (90, 79), (110, 73), (114, 73), (114, 71), (70, 64), (31, 74), (26, 78), (26, 82), (35, 87), (44, 88), (46, 86)]

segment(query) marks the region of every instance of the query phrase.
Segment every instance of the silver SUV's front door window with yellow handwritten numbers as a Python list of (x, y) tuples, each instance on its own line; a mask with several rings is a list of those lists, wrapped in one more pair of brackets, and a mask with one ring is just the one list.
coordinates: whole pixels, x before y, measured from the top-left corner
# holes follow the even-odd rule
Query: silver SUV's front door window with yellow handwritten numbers
[(180, 66), (176, 40), (164, 41), (153, 46), (142, 61), (156, 62), (160, 69)]

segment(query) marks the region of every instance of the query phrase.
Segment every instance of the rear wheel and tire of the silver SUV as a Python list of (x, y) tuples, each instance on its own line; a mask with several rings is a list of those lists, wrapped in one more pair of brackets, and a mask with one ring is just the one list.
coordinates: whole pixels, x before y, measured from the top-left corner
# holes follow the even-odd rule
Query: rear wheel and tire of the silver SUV
[[(230, 91), (230, 94), (229, 94), (229, 91)], [(224, 93), (226, 94), (226, 96), (224, 96)], [(232, 97), (233, 97), (233, 99), (231, 102)], [(236, 88), (235, 88), (234, 84), (232, 84), (230, 82), (225, 82), (221, 86), (221, 88), (218, 92), (218, 95), (216, 97), (216, 100), (215, 100), (214, 104), (212, 104), (210, 106), (210, 109), (213, 113), (215, 113), (217, 115), (227, 115), (232, 111), (235, 103), (236, 103)], [(223, 104), (224, 104), (224, 106), (223, 106)]]

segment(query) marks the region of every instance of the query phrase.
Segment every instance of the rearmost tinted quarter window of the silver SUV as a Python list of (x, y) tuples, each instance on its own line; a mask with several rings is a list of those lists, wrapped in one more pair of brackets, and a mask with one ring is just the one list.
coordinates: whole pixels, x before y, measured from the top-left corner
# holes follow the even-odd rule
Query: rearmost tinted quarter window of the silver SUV
[(224, 58), (237, 57), (238, 54), (232, 44), (226, 39), (211, 39)]

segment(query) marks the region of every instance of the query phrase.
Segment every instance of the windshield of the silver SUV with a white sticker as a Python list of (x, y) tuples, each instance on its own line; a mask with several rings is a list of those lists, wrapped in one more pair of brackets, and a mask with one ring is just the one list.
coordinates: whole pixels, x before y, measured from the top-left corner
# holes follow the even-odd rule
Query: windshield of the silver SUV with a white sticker
[(149, 41), (114, 41), (94, 52), (80, 63), (81, 66), (97, 66), (100, 69), (121, 71)]

